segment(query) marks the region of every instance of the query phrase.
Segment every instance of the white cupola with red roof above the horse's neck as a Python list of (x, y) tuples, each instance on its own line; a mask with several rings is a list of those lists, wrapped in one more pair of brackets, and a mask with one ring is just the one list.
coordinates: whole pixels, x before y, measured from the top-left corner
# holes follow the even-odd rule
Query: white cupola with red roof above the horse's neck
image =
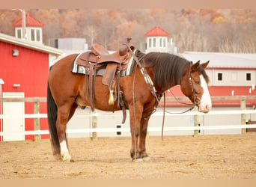
[(168, 34), (167, 31), (163, 30), (156, 25), (150, 31), (147, 31), (145, 37), (147, 37), (147, 49), (148, 52), (168, 52)]

